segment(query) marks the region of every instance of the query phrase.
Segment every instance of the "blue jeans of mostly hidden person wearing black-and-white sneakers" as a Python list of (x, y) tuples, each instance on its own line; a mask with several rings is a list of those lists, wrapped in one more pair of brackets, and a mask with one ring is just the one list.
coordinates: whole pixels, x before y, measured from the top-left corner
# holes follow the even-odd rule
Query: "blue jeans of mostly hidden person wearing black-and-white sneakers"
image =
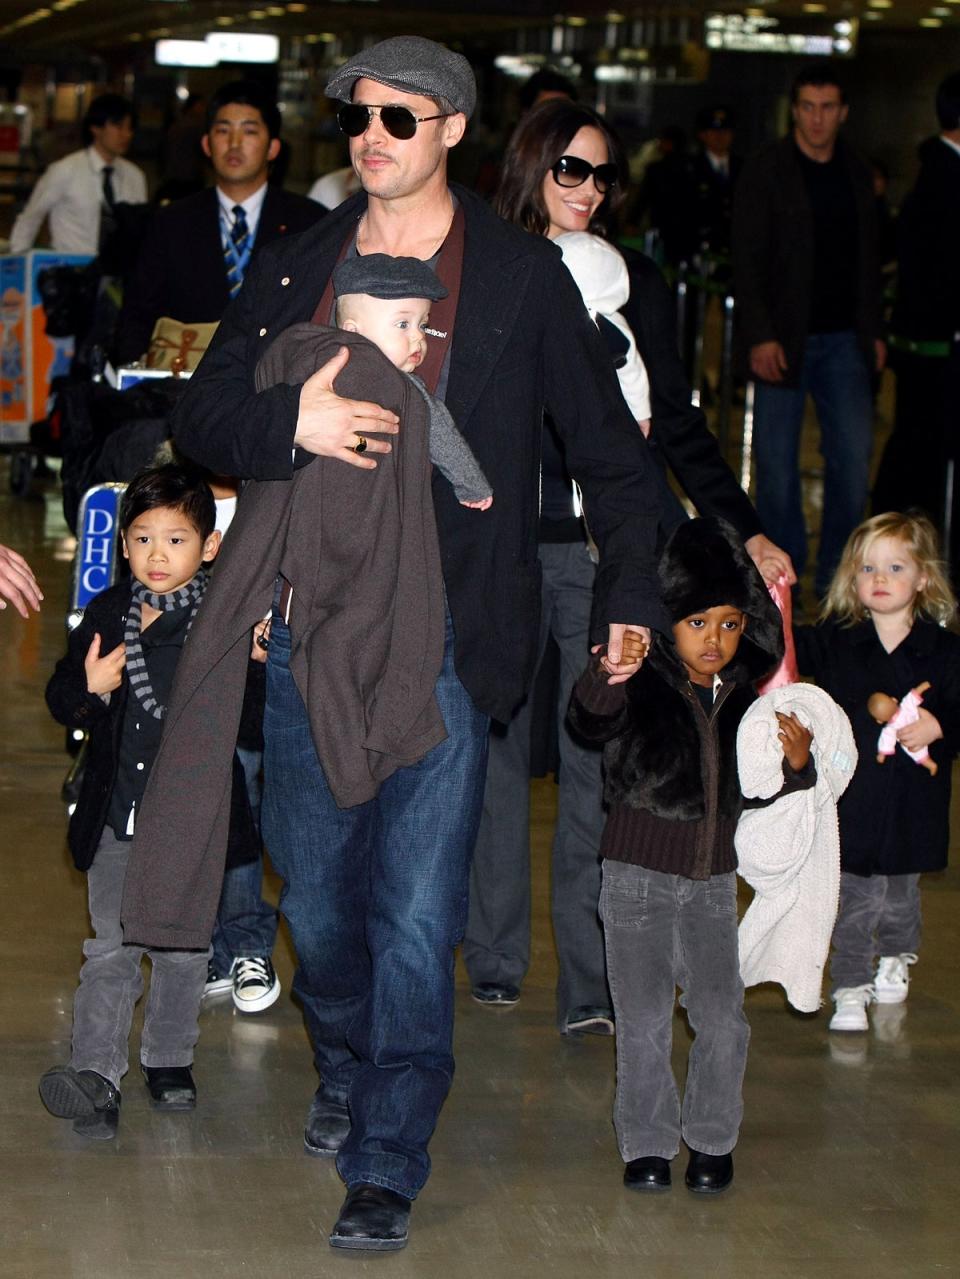
[[(236, 755), (243, 765), (253, 824), (259, 830), (259, 767), (263, 753), (238, 746)], [(224, 886), (220, 890), (220, 906), (213, 923), (216, 971), (225, 977), (239, 955), (270, 959), (276, 941), (276, 911), (270, 902), (263, 900), (262, 851), (252, 862), (228, 866), (224, 871)]]

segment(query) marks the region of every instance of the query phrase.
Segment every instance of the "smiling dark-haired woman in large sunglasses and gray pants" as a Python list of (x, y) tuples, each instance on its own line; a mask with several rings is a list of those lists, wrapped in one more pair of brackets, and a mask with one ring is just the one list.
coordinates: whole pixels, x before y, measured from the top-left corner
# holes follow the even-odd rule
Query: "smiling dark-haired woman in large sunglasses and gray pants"
[[(509, 221), (556, 239), (566, 231), (612, 238), (628, 170), (623, 147), (603, 116), (579, 102), (554, 98), (520, 120), (506, 150), (495, 207)], [(656, 265), (624, 253), (630, 297), (623, 315), (649, 377), (649, 444), (704, 515), (722, 515), (744, 537), (768, 581), (790, 559), (762, 533), (757, 514), (699, 408), (690, 400), (670, 292)], [(611, 357), (614, 358), (614, 357)], [(600, 898), (600, 753), (566, 728), (575, 679), (589, 656), (594, 565), (562, 449), (545, 422), (539, 559), (543, 570), (539, 656), (552, 634), (561, 657), (557, 697), (560, 792), (552, 852), (552, 918), (560, 973), (561, 1033), (614, 1032), (606, 982)], [(483, 817), (473, 862), (464, 961), (473, 995), (484, 1004), (516, 1003), (529, 963), (529, 701), (506, 729), (495, 728)]]

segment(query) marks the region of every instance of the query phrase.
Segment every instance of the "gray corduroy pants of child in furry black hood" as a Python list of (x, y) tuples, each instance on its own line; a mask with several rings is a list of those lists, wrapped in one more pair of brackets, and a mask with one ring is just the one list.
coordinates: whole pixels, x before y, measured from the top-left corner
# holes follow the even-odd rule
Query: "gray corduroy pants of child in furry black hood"
[[(600, 914), (616, 1013), (614, 1127), (624, 1163), (726, 1155), (743, 1118), (750, 1027), (736, 941), (736, 875), (690, 880), (603, 862)], [(683, 1109), (671, 1068), (676, 987), (695, 1039)]]

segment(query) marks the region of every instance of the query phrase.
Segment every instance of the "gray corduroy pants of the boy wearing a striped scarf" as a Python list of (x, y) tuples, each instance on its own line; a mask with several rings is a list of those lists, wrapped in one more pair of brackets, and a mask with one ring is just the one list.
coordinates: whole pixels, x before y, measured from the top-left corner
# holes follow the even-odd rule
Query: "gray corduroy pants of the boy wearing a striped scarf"
[(107, 826), (87, 871), (93, 938), (83, 943), (84, 963), (73, 1000), (70, 1065), (96, 1071), (118, 1087), (128, 1068), (133, 1009), (143, 994), (143, 955), (150, 955), (152, 964), (141, 1037), (143, 1065), (192, 1064), (207, 977), (207, 950), (124, 945), (120, 900), (132, 847)]

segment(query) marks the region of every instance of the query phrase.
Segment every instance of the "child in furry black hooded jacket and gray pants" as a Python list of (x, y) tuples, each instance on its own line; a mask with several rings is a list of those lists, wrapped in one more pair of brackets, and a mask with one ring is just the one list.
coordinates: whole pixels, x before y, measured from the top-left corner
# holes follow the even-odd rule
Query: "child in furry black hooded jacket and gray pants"
[[(754, 683), (782, 656), (784, 634), (763, 579), (722, 519), (674, 532), (660, 585), (672, 636), (654, 636), (628, 683), (610, 683), (597, 655), (570, 720), (606, 743), (600, 913), (624, 1183), (666, 1191), (683, 1137), (688, 1188), (716, 1193), (734, 1177), (750, 1035), (736, 940), (736, 730)], [(795, 716), (778, 720), (784, 788), (767, 803), (816, 781), (809, 730)], [(677, 986), (695, 1033), (683, 1108), (670, 1064)]]

